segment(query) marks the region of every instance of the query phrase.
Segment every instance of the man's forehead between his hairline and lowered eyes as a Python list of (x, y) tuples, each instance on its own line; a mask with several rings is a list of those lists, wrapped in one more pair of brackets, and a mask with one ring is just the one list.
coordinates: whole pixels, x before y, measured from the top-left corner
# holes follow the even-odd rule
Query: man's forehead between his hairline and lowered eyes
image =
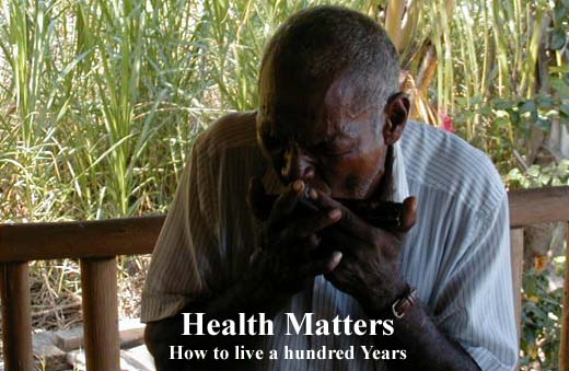
[(356, 136), (379, 109), (363, 98), (351, 73), (299, 81), (268, 65), (262, 72), (257, 119), (274, 137)]

